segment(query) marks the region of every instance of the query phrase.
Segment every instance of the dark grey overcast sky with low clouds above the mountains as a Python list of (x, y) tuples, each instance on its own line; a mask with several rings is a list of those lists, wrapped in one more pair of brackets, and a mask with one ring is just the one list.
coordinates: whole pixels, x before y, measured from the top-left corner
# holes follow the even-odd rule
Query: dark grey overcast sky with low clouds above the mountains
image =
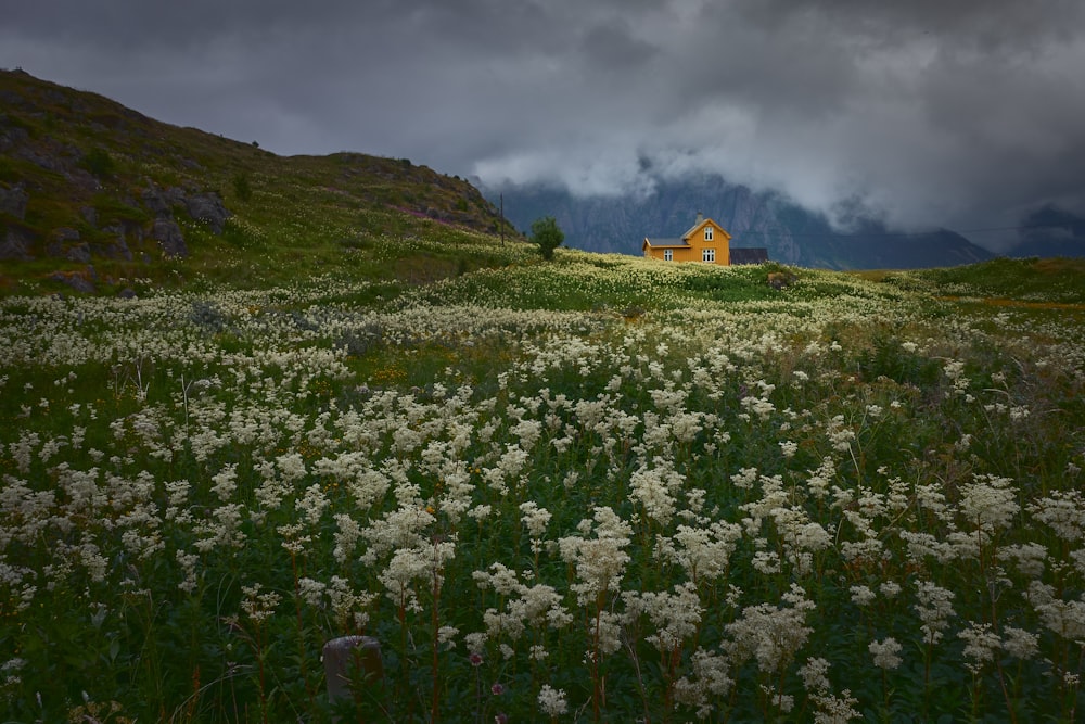
[(578, 193), (709, 170), (905, 228), (1085, 214), (1082, 0), (0, 5), (0, 66), (280, 154)]

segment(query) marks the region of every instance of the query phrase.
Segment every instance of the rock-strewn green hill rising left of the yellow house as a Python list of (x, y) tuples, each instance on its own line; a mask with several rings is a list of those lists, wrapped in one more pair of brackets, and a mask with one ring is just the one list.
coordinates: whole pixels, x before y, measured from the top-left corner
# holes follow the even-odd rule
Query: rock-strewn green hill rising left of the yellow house
[(214, 256), (224, 245), (244, 252), (268, 237), (304, 253), (357, 246), (416, 219), (500, 230), (497, 209), (468, 181), (406, 158), (279, 156), (23, 71), (0, 71), (0, 109), (8, 289), (35, 279), (92, 291), (108, 285), (105, 277), (153, 275), (164, 262)]

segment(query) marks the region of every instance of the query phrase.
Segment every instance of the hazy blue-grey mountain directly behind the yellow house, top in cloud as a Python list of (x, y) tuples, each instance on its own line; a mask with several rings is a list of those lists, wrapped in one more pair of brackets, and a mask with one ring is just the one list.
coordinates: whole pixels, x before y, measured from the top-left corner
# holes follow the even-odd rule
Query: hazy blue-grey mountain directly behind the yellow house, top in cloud
[[(492, 201), (498, 189), (483, 189)], [(644, 237), (677, 237), (698, 212), (719, 221), (735, 246), (765, 246), (769, 258), (830, 269), (921, 268), (982, 262), (993, 256), (965, 237), (939, 229), (899, 233), (866, 221), (851, 233), (832, 229), (828, 219), (773, 192), (706, 175), (689, 181), (655, 179), (642, 196), (576, 198), (545, 186), (507, 187), (505, 214), (526, 229), (540, 216), (553, 216), (566, 243), (596, 252), (640, 254)]]

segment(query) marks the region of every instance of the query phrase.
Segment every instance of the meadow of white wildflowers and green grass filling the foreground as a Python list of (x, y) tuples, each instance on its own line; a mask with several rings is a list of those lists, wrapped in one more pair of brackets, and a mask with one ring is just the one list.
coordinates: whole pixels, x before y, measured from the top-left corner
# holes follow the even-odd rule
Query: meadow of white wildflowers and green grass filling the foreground
[(1080, 309), (565, 258), (0, 300), (0, 721), (1085, 716)]

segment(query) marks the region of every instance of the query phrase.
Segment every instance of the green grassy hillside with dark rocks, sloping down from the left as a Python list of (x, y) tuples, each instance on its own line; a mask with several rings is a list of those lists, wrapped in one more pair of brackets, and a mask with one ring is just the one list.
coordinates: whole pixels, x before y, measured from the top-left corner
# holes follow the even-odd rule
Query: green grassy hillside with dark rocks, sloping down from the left
[[(8, 292), (71, 291), (73, 278), (100, 293), (327, 272), (411, 283), (508, 261), (449, 252), (498, 233), (497, 212), (470, 183), (406, 158), (282, 157), (23, 72), (0, 72), (0, 100)], [(193, 218), (184, 198), (219, 203), (222, 228)], [(153, 238), (158, 218), (176, 221), (186, 254)]]

